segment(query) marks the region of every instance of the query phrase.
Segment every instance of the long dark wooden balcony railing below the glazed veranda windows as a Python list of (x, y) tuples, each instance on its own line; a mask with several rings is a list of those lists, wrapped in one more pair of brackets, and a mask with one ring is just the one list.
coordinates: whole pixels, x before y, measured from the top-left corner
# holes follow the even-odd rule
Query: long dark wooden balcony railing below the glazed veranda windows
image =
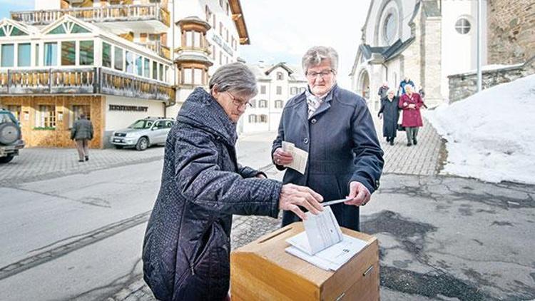
[(0, 95), (105, 94), (175, 102), (173, 86), (108, 68), (0, 71)]

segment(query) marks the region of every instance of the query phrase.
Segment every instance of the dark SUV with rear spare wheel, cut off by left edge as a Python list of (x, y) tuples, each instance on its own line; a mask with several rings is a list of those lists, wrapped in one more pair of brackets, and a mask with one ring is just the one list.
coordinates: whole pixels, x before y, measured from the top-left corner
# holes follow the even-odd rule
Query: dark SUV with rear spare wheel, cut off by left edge
[(8, 163), (24, 148), (21, 126), (13, 113), (0, 108), (0, 163)]

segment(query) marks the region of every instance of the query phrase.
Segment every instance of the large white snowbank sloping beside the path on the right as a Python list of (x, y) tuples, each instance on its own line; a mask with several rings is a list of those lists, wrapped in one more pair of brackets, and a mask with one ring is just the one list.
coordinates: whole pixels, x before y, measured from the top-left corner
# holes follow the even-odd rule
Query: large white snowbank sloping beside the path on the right
[(424, 116), (448, 142), (443, 173), (535, 184), (535, 75)]

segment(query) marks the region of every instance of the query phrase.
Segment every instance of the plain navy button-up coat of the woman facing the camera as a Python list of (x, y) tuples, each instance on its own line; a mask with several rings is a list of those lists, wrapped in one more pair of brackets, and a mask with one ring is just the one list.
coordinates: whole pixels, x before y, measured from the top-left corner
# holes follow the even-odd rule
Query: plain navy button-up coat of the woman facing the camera
[[(280, 148), (282, 141), (288, 141), (308, 153), (305, 174), (287, 168), (283, 183), (306, 185), (325, 201), (345, 198), (354, 180), (370, 193), (377, 190), (383, 152), (364, 98), (335, 86), (310, 118), (307, 112), (305, 93), (290, 99), (282, 111), (271, 152)], [(340, 203), (331, 208), (342, 227), (359, 230), (358, 207)], [(282, 215), (282, 225), (297, 220), (300, 219), (291, 211)]]

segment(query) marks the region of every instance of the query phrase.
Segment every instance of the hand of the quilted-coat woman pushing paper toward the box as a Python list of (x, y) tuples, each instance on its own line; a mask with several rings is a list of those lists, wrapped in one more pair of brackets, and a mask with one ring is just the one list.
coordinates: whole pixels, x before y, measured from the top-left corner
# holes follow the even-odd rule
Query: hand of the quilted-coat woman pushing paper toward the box
[(312, 214), (317, 215), (323, 211), (323, 206), (320, 202), (323, 197), (314, 190), (300, 185), (285, 184), (282, 185), (279, 197), (279, 209), (290, 210), (295, 213), (302, 220), (307, 219), (307, 215), (298, 207), (304, 207)]

